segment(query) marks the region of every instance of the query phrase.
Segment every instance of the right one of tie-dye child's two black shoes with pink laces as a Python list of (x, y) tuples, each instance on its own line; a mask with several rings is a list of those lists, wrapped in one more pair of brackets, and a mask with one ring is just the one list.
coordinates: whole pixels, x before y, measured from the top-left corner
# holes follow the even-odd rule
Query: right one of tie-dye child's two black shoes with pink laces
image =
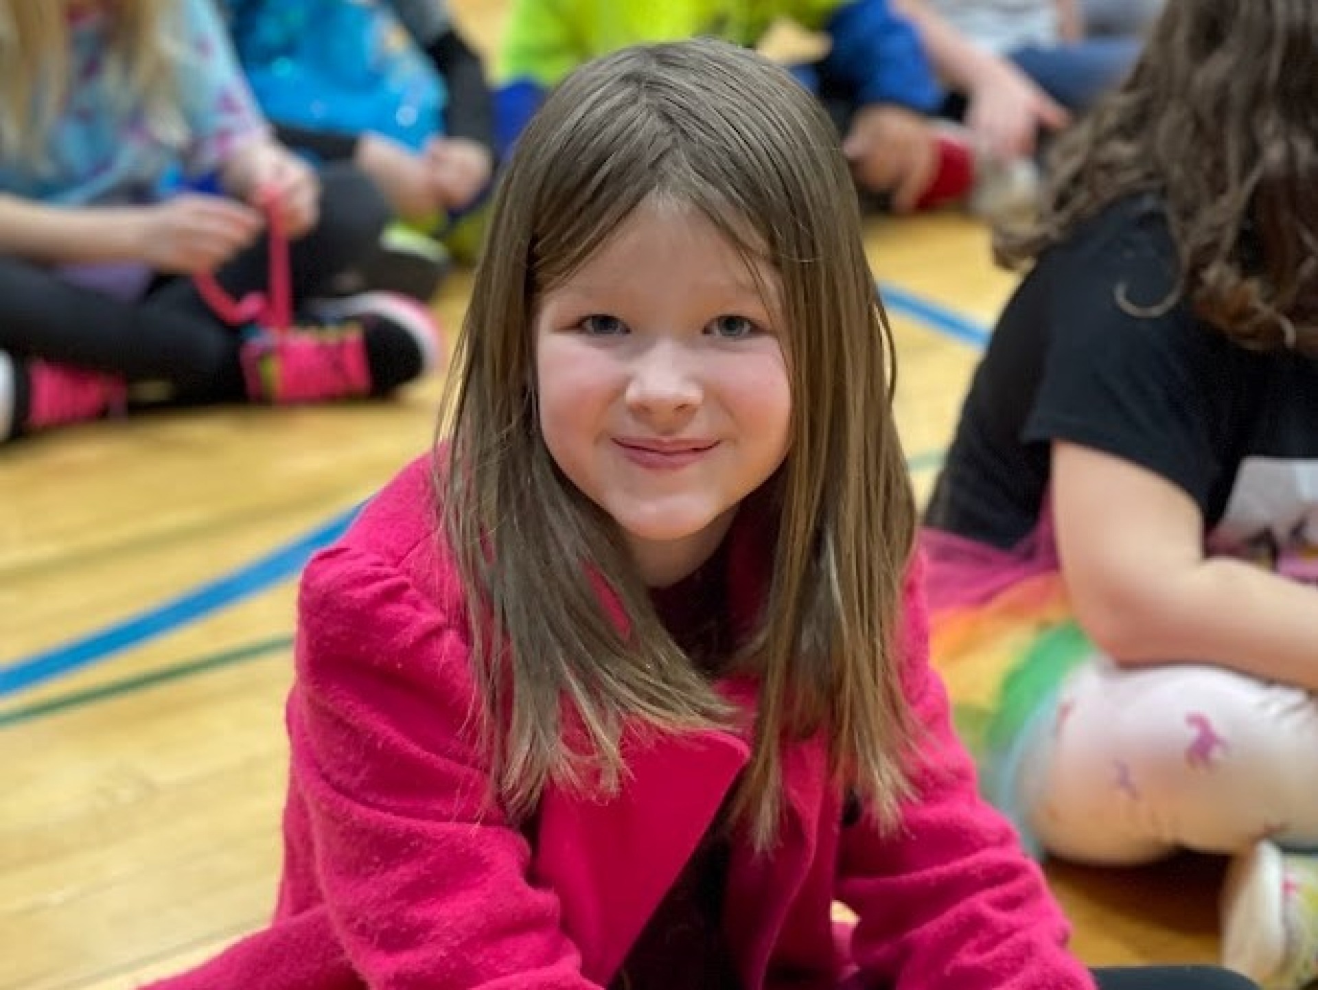
[(389, 293), (319, 303), (316, 323), (262, 331), (243, 345), (248, 395), (291, 405), (384, 395), (436, 363), (438, 328), (422, 306)]

